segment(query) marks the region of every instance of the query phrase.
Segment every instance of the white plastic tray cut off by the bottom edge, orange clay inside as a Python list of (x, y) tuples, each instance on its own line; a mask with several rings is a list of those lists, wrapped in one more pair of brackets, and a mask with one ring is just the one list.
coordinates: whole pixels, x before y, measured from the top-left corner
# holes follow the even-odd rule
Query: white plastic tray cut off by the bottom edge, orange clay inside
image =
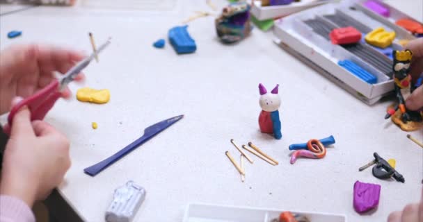
[[(271, 222), (284, 211), (287, 210), (192, 203), (186, 207), (184, 222)], [(311, 222), (346, 222), (344, 215), (291, 212), (307, 216)]]

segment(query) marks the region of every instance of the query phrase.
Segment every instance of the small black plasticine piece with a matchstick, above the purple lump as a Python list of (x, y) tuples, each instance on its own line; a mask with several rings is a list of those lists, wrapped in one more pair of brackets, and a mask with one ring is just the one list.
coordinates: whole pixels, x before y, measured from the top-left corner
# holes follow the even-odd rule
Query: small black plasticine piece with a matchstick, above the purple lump
[(368, 167), (371, 167), (373, 164), (376, 164), (376, 166), (374, 166), (372, 169), (372, 174), (374, 177), (379, 179), (388, 179), (393, 177), (398, 182), (406, 182), (404, 177), (400, 173), (398, 173), (394, 169), (394, 167), (392, 167), (388, 163), (388, 161), (384, 160), (381, 156), (379, 156), (378, 153), (373, 153), (373, 156), (374, 156), (374, 160), (360, 167), (358, 171), (363, 171), (367, 169)]

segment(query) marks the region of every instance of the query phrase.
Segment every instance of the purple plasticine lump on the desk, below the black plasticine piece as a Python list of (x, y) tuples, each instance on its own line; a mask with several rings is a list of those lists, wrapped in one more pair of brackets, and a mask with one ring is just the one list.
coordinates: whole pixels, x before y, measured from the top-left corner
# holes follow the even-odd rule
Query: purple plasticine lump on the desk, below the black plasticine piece
[(372, 210), (379, 205), (381, 185), (356, 181), (354, 183), (354, 209), (359, 214)]

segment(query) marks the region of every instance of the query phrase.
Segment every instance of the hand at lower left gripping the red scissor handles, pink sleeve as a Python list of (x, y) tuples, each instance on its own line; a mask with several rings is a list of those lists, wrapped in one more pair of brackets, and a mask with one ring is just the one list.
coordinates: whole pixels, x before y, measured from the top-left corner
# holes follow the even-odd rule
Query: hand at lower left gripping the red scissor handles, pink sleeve
[(27, 108), (13, 118), (3, 155), (0, 194), (14, 196), (30, 207), (48, 196), (70, 167), (69, 141), (44, 121), (30, 121)]

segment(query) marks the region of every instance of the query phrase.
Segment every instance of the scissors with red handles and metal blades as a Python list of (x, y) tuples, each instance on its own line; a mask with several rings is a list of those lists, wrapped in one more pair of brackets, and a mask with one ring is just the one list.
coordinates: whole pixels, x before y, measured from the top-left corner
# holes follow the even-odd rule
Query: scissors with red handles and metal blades
[[(103, 51), (109, 44), (110, 40), (107, 40), (99, 47), (97, 53)], [(92, 53), (90, 56), (69, 69), (60, 81), (57, 79), (53, 80), (49, 85), (40, 89), (40, 91), (35, 92), (32, 96), (29, 96), (16, 105), (13, 105), (8, 116), (8, 124), (4, 128), (5, 133), (10, 132), (13, 117), (15, 117), (15, 114), (24, 106), (28, 107), (31, 111), (31, 121), (44, 119), (47, 112), (53, 108), (54, 103), (56, 103), (56, 101), (61, 97), (62, 91), (65, 89), (67, 84), (72, 82), (75, 76), (81, 73), (81, 71), (90, 64), (94, 57), (95, 53)]]

